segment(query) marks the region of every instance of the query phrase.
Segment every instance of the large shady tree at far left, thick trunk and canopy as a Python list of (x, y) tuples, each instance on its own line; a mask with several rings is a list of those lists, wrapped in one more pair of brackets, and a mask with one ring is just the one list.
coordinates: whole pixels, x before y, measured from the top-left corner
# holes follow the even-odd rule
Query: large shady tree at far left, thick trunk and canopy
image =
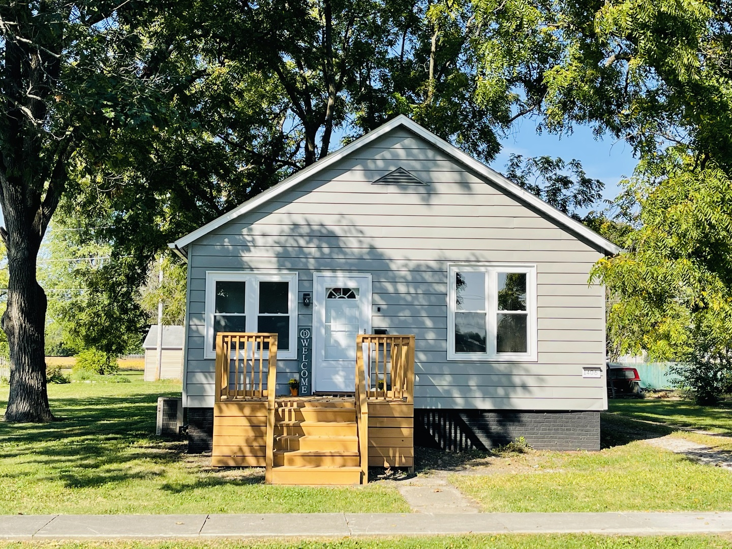
[(170, 53), (161, 53), (159, 37), (145, 28), (159, 8), (165, 9), (162, 3), (103, 0), (0, 4), (7, 421), (53, 419), (43, 352), (48, 302), (36, 268), (59, 202), (78, 193), (77, 182), (89, 168), (122, 164), (108, 146), (119, 134), (145, 135), (165, 127), (163, 94), (175, 82), (159, 71)]

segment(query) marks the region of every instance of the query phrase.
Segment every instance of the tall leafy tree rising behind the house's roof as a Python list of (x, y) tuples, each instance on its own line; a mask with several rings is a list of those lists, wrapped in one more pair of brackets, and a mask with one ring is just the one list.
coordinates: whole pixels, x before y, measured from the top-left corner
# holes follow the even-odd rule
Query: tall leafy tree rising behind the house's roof
[(335, 136), (350, 141), (398, 113), (492, 160), (518, 96), (474, 101), (476, 17), (470, 4), (449, 5), (232, 0), (166, 13), (163, 26), (177, 29), (171, 48), (195, 50), (179, 68), (197, 78), (176, 98), (181, 123), (148, 148), (121, 135), (114, 150), (135, 155), (134, 169), (106, 176), (107, 193), (86, 184), (61, 205), (75, 226), (103, 227), (93, 234), (113, 243), (113, 258), (127, 258), (124, 283), (112, 279), (109, 291), (152, 296), (149, 264), (166, 242), (326, 156)]

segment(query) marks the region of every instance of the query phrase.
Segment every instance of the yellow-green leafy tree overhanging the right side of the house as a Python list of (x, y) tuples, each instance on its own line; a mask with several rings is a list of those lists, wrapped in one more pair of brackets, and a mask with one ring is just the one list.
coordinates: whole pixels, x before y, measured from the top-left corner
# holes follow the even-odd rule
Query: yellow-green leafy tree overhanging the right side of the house
[(732, 347), (731, 6), (504, 4), (498, 15), (485, 15), (526, 29), (517, 42), (539, 33), (562, 53), (541, 71), (545, 93), (533, 104), (539, 127), (568, 132), (591, 124), (638, 155), (619, 200), (632, 227), (619, 234), (627, 252), (593, 272), (613, 299), (608, 326), (616, 351), (645, 349), (706, 372), (691, 388), (709, 401)]

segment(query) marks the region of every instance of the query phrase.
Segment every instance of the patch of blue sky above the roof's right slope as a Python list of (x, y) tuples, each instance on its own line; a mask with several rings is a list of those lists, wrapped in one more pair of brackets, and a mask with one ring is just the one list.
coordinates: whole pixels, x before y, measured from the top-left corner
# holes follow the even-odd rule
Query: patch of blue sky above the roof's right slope
[(507, 138), (501, 140), (503, 149), (490, 167), (504, 172), (509, 155), (523, 154), (527, 157), (548, 155), (561, 157), (565, 161), (576, 158), (582, 163), (587, 176), (605, 183), (603, 198), (612, 200), (620, 187), (618, 182), (630, 176), (635, 168), (630, 146), (624, 141), (615, 142), (612, 137), (597, 140), (589, 127), (576, 127), (572, 135), (537, 134), (536, 123), (531, 119), (515, 122)]

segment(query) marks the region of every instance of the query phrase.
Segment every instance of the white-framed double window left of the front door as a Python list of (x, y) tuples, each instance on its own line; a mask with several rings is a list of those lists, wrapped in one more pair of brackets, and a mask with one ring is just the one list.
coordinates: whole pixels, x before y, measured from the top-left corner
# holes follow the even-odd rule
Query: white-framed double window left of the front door
[(207, 272), (206, 358), (219, 332), (276, 333), (278, 358), (296, 358), (297, 274)]

